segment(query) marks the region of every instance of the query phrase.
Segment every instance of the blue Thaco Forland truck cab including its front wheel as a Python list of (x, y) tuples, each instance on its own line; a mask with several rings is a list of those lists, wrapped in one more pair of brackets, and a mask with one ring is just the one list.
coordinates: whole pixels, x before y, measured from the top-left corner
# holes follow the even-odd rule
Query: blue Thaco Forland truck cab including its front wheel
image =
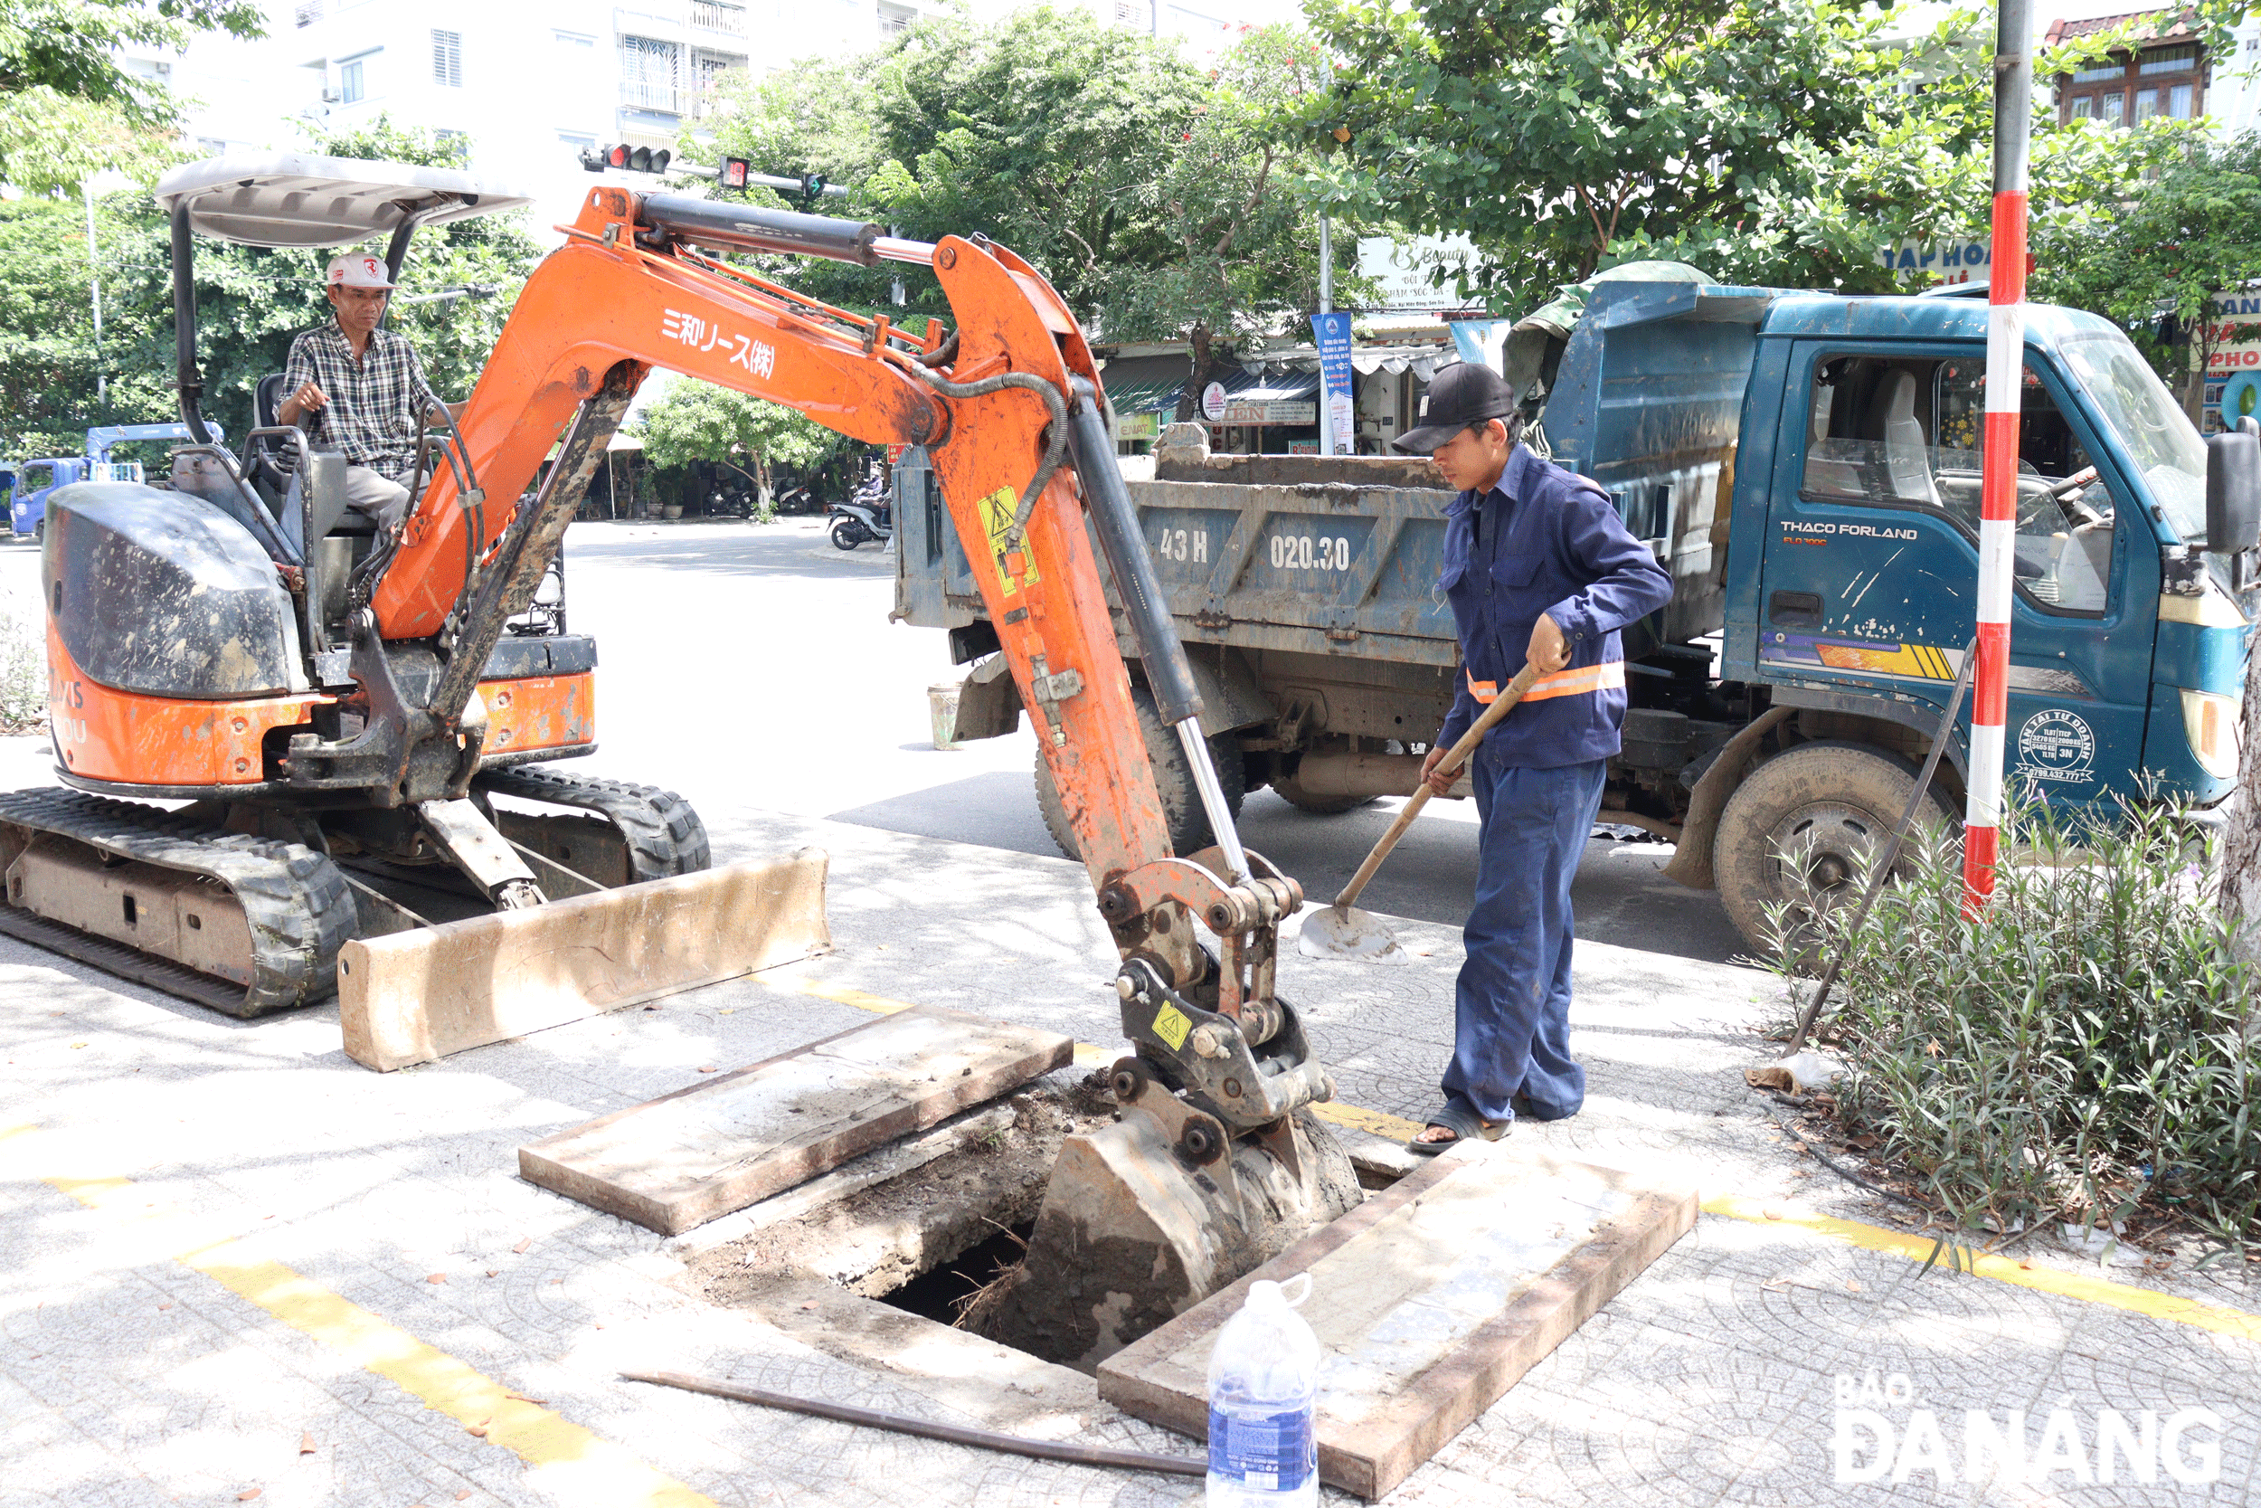
[[(1967, 296), (1619, 283), (1562, 350), (1556, 461), (1651, 520), (1680, 588), (1628, 656), (1716, 644), (1712, 690), (1745, 726), (1777, 712), (1689, 803), (1723, 803), (1712, 879), (1752, 941), (1768, 902), (1852, 882), (1963, 669), (1985, 321)], [(2207, 443), (2110, 321), (2028, 305), (2019, 391), (2010, 791), (2211, 807), (2236, 780), (2252, 540), (2209, 545)], [(1967, 746), (1965, 701), (1938, 818)]]

